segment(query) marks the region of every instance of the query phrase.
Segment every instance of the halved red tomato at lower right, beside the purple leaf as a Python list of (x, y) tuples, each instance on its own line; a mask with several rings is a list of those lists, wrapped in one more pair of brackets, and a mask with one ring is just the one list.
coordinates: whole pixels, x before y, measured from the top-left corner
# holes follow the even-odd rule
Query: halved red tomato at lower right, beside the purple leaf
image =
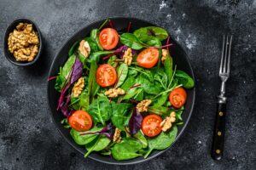
[(160, 127), (160, 123), (162, 122), (162, 118), (157, 115), (148, 115), (143, 119), (143, 133), (148, 137), (154, 137), (161, 133), (162, 129)]

